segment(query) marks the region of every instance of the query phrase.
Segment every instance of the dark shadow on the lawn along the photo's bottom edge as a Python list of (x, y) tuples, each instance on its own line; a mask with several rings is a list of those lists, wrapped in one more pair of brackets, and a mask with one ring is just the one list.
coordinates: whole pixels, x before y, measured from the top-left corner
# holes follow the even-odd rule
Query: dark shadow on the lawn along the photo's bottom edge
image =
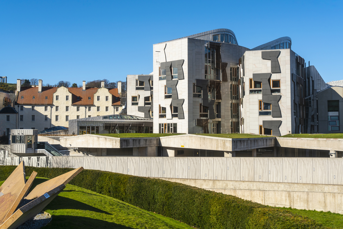
[(52, 221), (44, 228), (116, 228), (133, 229), (114, 222), (108, 222), (100, 219), (92, 219), (82, 216), (52, 216)]

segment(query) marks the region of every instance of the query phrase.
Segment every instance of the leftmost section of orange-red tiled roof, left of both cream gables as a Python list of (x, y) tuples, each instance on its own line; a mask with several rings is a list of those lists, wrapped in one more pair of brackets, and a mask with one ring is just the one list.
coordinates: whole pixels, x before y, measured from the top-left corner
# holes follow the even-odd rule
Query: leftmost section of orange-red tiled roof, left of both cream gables
[[(52, 105), (52, 95), (56, 90), (57, 88), (43, 87), (42, 93), (38, 93), (38, 87), (21, 87), (16, 102), (18, 104)], [(33, 96), (35, 96), (35, 99), (33, 99)], [(47, 99), (45, 99), (46, 96)]]

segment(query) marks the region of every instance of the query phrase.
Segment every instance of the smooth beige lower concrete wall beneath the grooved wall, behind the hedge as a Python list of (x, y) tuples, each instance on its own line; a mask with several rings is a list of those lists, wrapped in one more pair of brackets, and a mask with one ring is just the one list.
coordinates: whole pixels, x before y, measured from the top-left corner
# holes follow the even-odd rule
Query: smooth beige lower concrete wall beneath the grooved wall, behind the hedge
[(161, 179), (221, 192), (273, 207), (292, 207), (343, 214), (343, 189), (340, 185)]

